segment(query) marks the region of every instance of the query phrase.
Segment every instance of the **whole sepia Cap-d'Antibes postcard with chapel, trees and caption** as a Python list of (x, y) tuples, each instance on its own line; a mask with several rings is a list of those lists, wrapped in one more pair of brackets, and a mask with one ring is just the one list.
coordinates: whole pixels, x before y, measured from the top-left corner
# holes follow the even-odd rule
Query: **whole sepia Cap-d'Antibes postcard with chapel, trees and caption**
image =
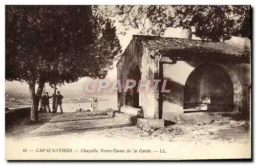
[(6, 160), (250, 159), (250, 14), (6, 5)]

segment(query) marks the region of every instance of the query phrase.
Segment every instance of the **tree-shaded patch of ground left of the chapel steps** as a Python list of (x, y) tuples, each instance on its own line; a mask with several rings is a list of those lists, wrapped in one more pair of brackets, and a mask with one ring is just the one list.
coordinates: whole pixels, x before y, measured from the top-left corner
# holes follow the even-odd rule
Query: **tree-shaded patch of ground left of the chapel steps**
[(25, 117), (8, 125), (6, 136), (24, 138), (134, 126), (105, 113), (94, 113), (43, 113), (39, 114), (40, 122), (36, 124), (30, 124), (29, 117)]

